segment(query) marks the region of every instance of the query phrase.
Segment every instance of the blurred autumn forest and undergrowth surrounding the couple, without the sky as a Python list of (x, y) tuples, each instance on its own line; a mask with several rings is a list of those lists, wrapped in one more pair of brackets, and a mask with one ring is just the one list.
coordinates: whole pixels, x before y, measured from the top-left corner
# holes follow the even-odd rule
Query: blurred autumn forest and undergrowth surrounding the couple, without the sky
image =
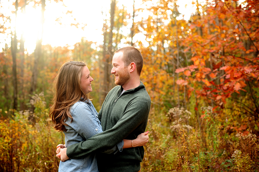
[[(259, 1), (193, 0), (187, 21), (177, 0), (143, 0), (141, 8), (132, 0), (130, 12), (118, 1), (103, 11), (103, 43), (82, 37), (73, 48), (42, 44), (45, 8), (62, 0), (14, 0), (9, 8), (1, 1), (0, 171), (58, 170), (55, 150), (64, 135), (48, 119), (58, 68), (88, 63), (99, 111), (115, 86), (113, 53), (124, 46), (141, 51), (141, 81), (152, 101), (143, 172), (259, 171)], [(17, 36), (19, 18), (5, 13), (17, 16), (28, 6), (41, 9), (32, 53), (23, 32)]]

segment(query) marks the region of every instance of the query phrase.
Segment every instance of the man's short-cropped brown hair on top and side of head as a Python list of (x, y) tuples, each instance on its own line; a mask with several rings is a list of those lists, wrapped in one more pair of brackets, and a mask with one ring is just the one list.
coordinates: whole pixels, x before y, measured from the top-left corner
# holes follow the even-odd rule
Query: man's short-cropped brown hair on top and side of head
[(143, 57), (138, 49), (135, 47), (123, 47), (115, 51), (115, 53), (122, 52), (122, 60), (124, 66), (128, 66), (130, 63), (134, 62), (137, 67), (137, 73), (140, 76), (142, 67), (143, 67)]

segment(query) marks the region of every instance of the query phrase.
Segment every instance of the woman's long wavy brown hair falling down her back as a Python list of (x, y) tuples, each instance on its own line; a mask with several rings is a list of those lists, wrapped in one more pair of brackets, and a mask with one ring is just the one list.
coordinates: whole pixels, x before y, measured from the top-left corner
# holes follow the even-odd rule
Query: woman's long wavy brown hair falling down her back
[(55, 124), (57, 131), (65, 131), (65, 122), (68, 117), (72, 119), (70, 114), (71, 105), (75, 104), (80, 98), (88, 99), (81, 88), (82, 70), (86, 64), (79, 61), (68, 61), (64, 63), (54, 81), (54, 96), (52, 106), (49, 110), (49, 117)]

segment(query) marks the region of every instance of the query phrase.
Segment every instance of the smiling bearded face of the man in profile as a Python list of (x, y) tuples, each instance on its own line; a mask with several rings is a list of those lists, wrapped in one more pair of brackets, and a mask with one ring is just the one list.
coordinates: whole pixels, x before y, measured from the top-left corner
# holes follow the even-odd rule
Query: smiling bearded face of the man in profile
[(128, 68), (124, 67), (122, 57), (123, 52), (118, 52), (113, 55), (113, 68), (111, 70), (111, 74), (115, 76), (115, 84), (121, 86), (126, 84), (130, 78)]

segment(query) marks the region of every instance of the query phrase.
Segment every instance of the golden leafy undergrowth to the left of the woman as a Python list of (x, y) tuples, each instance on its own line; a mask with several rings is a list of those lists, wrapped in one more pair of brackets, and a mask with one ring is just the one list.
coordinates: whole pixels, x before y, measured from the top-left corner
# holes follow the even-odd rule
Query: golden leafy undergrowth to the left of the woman
[(64, 136), (51, 127), (43, 96), (35, 95), (35, 113), (20, 111), (13, 119), (0, 119), (0, 171), (58, 170), (56, 145)]

